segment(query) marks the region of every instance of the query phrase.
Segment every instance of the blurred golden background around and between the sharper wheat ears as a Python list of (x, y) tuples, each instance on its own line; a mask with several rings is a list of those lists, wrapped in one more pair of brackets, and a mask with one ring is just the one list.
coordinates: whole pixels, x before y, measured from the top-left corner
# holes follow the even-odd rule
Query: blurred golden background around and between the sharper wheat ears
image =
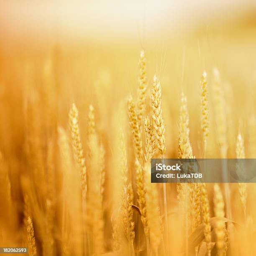
[[(150, 112), (149, 95), (154, 74), (161, 81), (166, 158), (177, 157), (182, 92), (187, 95), (193, 154), (196, 158), (202, 157), (200, 79), (204, 70), (207, 73), (210, 102), (206, 157), (220, 157), (211, 97), (214, 67), (220, 71), (225, 96), (228, 158), (236, 158), (238, 130), (243, 134), (246, 157), (255, 158), (255, 46), (255, 0), (0, 0), (0, 163), (6, 174), (1, 176), (0, 182), (6, 186), (0, 189), (0, 195), (10, 199), (0, 202), (1, 209), (9, 205), (9, 210), (0, 212), (1, 245), (24, 244), (23, 219), (28, 213), (26, 206), (29, 204), (25, 200), (28, 195), (28, 201), (33, 205), (30, 215), (38, 255), (70, 255), (62, 250), (62, 236), (67, 230), (72, 236), (67, 239), (71, 245), (71, 255), (82, 255), (79, 172), (74, 167), (72, 157), (72, 173), (76, 175), (69, 177), (69, 190), (64, 191), (66, 169), (61, 168), (63, 159), (59, 151), (58, 132), (58, 128), (62, 127), (70, 137), (68, 113), (72, 102), (75, 102), (85, 158), (89, 159), (90, 104), (95, 109), (95, 129), (99, 141), (105, 148), (104, 243), (105, 251), (112, 250), (110, 220), (115, 210), (114, 201), (118, 200), (112, 177), (115, 162), (113, 148), (118, 143), (116, 131), (120, 125), (117, 110), (125, 106), (126, 111), (128, 95), (137, 98), (138, 60), (142, 49), (146, 54), (148, 77), (147, 113)], [(128, 179), (134, 189), (134, 204), (137, 204), (131, 131), (126, 114), (124, 116)], [(49, 147), (49, 142), (54, 145), (53, 149)], [(47, 162), (49, 158), (52, 159), (51, 168)], [(48, 180), (49, 169), (54, 170), (51, 183)], [(44, 175), (48, 178), (44, 179)], [(52, 187), (49, 188), (49, 184)], [(213, 216), (213, 187), (208, 188)], [(248, 200), (254, 202), (255, 186), (248, 186), (248, 189), (251, 192), (248, 192)], [(232, 211), (239, 222), (243, 220), (243, 210), (238, 189), (234, 186), (230, 190), (231, 196), (235, 195), (232, 197)], [(73, 215), (70, 213), (72, 216), (68, 220), (63, 217), (66, 203), (63, 191), (70, 194), (67, 205), (70, 202), (68, 208)], [(172, 209), (173, 201), (177, 201), (176, 188), (168, 185), (167, 192), (168, 207)], [(50, 231), (46, 224), (47, 202), (51, 202), (54, 209), (54, 214), (51, 212), (54, 227)], [(163, 214), (161, 199), (159, 205)], [(10, 218), (13, 219), (11, 227), (6, 224)], [(137, 234), (142, 228), (138, 217), (135, 218)], [(250, 223), (255, 218), (256, 210), (251, 203), (248, 205)], [(174, 231), (178, 228), (175, 220), (173, 218), (171, 222)], [(71, 232), (69, 229), (63, 230), (65, 225), (72, 227)], [(251, 226), (254, 228), (254, 236), (251, 236), (253, 241), (255, 225)], [(247, 231), (240, 233), (242, 238), (245, 237), (245, 246), (241, 247), (243, 255), (250, 255), (246, 235), (251, 233)], [(44, 250), (44, 244), (48, 241), (47, 232), (53, 236), (52, 247), (57, 253), (49, 253), (47, 248)], [(176, 236), (174, 233), (172, 235)], [(137, 253), (141, 247), (145, 249), (145, 245), (141, 246), (139, 241), (134, 244)], [(173, 251), (175, 253), (175, 249)], [(145, 250), (142, 255), (146, 255)]]

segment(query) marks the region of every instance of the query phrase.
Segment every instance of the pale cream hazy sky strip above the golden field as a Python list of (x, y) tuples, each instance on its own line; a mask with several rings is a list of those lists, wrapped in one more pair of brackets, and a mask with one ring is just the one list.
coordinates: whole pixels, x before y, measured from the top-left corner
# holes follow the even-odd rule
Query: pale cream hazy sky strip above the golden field
[[(254, 1), (255, 2), (255, 1)], [(232, 12), (249, 0), (0, 0), (1, 35), (138, 36)]]

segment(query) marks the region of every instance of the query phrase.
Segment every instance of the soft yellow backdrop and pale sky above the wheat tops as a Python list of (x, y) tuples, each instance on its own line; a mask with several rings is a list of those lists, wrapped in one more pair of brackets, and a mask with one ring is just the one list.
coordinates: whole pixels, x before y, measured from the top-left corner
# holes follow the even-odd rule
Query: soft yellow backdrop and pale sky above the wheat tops
[[(88, 107), (97, 94), (96, 80), (107, 80), (105, 90), (108, 102), (112, 102), (108, 105), (111, 113), (120, 97), (136, 92), (138, 56), (144, 49), (148, 80), (152, 82), (154, 73), (159, 74), (166, 92), (164, 114), (174, 120), (173, 125), (177, 126), (175, 110), (184, 90), (191, 95), (189, 110), (196, 120), (191, 132), (198, 135), (199, 80), (203, 69), (210, 78), (213, 67), (220, 69), (228, 84), (229, 100), (237, 106), (233, 126), (238, 126), (240, 119), (244, 119), (245, 126), (247, 115), (254, 113), (255, 1), (24, 0), (1, 1), (0, 5), (2, 102), (13, 93), (11, 90), (23, 91), (26, 69), (36, 70), (34, 86), (40, 87), (40, 73), (53, 62), (58, 66), (54, 67), (55, 79), (61, 86), (62, 125), (67, 121), (64, 113), (70, 102), (75, 100), (83, 108)], [(21, 104), (22, 93), (13, 97), (14, 102), (5, 102), (11, 111)], [(84, 115), (82, 122), (86, 122)], [(197, 145), (197, 141), (194, 143)]]

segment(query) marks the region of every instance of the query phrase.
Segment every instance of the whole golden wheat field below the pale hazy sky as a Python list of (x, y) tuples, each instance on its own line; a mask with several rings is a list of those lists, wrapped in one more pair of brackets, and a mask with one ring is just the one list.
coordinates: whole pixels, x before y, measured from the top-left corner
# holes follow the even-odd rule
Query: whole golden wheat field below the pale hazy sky
[(163, 44), (3, 40), (0, 247), (256, 255), (255, 184), (155, 184), (150, 167), (256, 158), (255, 29), (238, 18)]

